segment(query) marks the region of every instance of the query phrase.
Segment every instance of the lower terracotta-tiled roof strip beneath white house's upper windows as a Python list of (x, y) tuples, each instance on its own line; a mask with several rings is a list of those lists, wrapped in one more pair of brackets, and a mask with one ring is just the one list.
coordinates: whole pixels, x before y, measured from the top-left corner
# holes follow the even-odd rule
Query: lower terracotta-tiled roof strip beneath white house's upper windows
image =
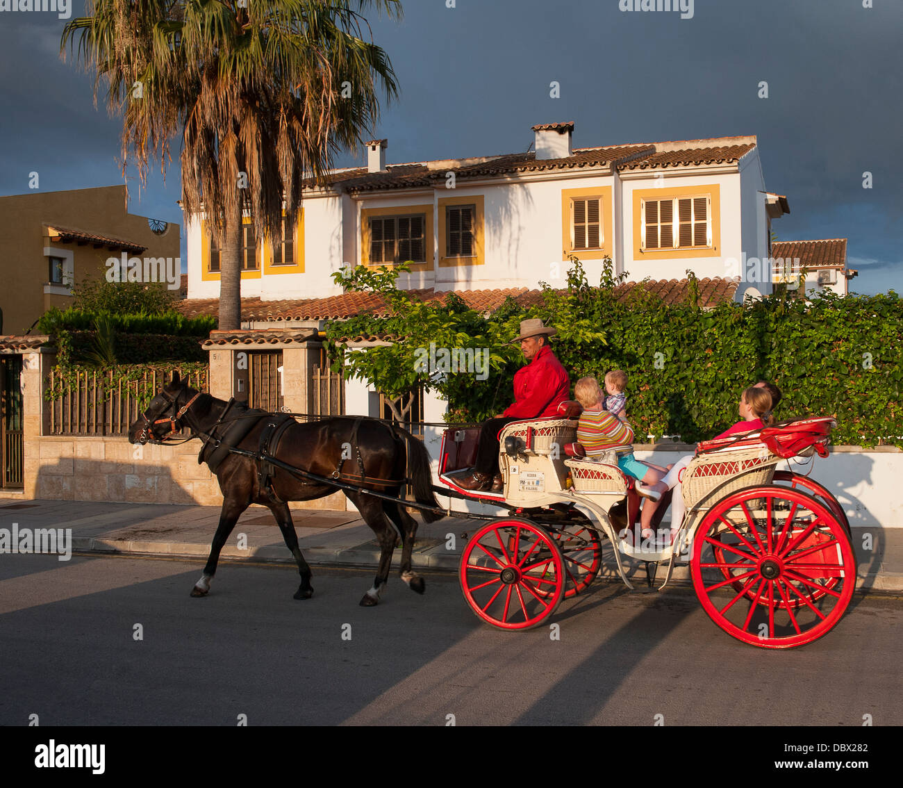
[[(737, 291), (737, 282), (737, 279), (700, 279), (700, 305), (708, 307), (732, 301)], [(645, 286), (666, 304), (678, 304), (687, 297), (686, 279), (625, 282), (618, 286), (616, 293), (624, 299), (638, 286)], [(456, 291), (426, 288), (408, 292), (424, 301), (444, 301), (450, 293), (454, 293), (471, 309), (483, 314), (494, 312), (509, 296), (524, 307), (543, 302), (542, 290), (527, 290), (526, 287)], [(187, 317), (197, 317), (200, 314), (215, 316), (219, 310), (219, 301), (216, 298), (191, 299), (182, 301), (176, 308)], [(245, 322), (291, 324), (292, 321), (344, 320), (357, 314), (385, 315), (388, 314), (388, 307), (381, 296), (373, 293), (344, 293), (326, 298), (284, 301), (261, 301), (257, 297), (241, 299), (241, 319)]]

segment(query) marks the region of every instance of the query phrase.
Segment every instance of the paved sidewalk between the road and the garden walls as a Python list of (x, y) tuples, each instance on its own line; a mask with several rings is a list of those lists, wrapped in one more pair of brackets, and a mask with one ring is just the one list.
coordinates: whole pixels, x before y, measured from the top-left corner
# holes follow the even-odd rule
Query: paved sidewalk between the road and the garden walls
[[(414, 515), (416, 517), (416, 515)], [(356, 511), (293, 509), (298, 540), (314, 566), (376, 568), (379, 545), (375, 534)], [(419, 519), (419, 518), (418, 518)], [(195, 558), (199, 568), (209, 553), (219, 522), (218, 506), (155, 503), (0, 500), (2, 534), (14, 524), (22, 529), (71, 529), (70, 547), (79, 554)], [(419, 570), (457, 572), (468, 537), (485, 521), (447, 517), (421, 523), (414, 544), (413, 563)], [(853, 527), (858, 563), (857, 588), (889, 593), (903, 591), (903, 528)], [(0, 553), (8, 548), (0, 547)], [(396, 549), (397, 567), (401, 549)], [(220, 558), (223, 561), (293, 564), (273, 515), (251, 507), (239, 518)], [(2, 556), (0, 556), (2, 559)], [(622, 558), (628, 576), (639, 590), (646, 586), (645, 565)], [(603, 542), (600, 579), (620, 582), (612, 548)], [(659, 582), (664, 579), (660, 574)], [(678, 565), (672, 582), (689, 583), (685, 566)]]

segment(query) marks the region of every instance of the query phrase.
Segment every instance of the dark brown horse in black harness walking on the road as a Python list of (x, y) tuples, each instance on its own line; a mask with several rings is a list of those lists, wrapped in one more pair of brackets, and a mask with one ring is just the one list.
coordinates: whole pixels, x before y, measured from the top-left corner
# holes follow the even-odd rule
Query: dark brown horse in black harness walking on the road
[[(171, 415), (167, 415), (171, 414)], [(253, 424), (250, 431), (241, 429)], [(253, 420), (253, 421), (252, 421)], [(299, 471), (341, 480), (358, 488), (375, 490), (399, 498), (408, 479), (414, 498), (435, 510), (439, 504), (433, 493), (433, 476), (430, 455), (425, 446), (407, 430), (382, 419), (368, 417), (328, 417), (321, 421), (300, 423), (292, 417), (282, 417), (281, 431), (274, 425), (279, 417), (264, 411), (249, 410), (232, 400), (225, 402), (209, 394), (191, 389), (179, 379), (178, 372), (172, 380), (151, 400), (147, 408), (129, 427), (128, 439), (133, 444), (163, 444), (183, 427), (191, 430), (192, 438), (204, 441), (198, 462), (206, 462), (216, 475), (223, 493), (219, 525), (210, 544), (207, 565), (203, 575), (191, 589), (191, 596), (207, 596), (210, 581), (216, 574), (219, 552), (235, 528), (238, 517), (251, 503), (260, 503), (273, 512), (276, 524), (282, 532), (285, 546), (291, 550), (301, 575), (301, 585), (295, 599), (313, 596), (311, 568), (304, 560), (294, 531), (290, 501), (312, 501), (336, 492), (336, 487), (294, 475), (277, 464), (269, 464), (266, 473), (260, 473), (258, 457), (228, 452), (229, 430), (247, 433), (235, 447), (260, 454), (265, 446), (265, 430), (275, 438), (269, 455)], [(267, 427), (269, 425), (269, 427)], [(279, 433), (276, 436), (276, 433)], [(238, 433), (233, 432), (236, 436)], [(226, 441), (223, 438), (227, 438)], [(265, 462), (265, 460), (264, 460)], [(357, 490), (344, 490), (349, 501), (377, 535), (381, 554), (377, 576), (360, 605), (377, 605), (386, 586), (392, 552), (396, 547), (396, 531), (402, 539), (402, 558), (399, 573), (407, 586), (418, 594), (425, 590), (424, 578), (411, 569), (411, 553), (417, 521), (406, 511), (401, 501), (386, 501)], [(442, 519), (438, 511), (424, 511), (424, 521)]]

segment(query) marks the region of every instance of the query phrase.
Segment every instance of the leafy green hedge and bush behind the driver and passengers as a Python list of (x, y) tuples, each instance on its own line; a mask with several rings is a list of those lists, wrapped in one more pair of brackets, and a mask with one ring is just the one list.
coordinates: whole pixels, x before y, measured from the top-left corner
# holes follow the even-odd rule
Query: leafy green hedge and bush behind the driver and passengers
[[(870, 297), (827, 293), (808, 302), (778, 294), (703, 310), (692, 274), (687, 303), (666, 305), (643, 286), (620, 296), (610, 267), (601, 286), (591, 287), (580, 261), (573, 262), (566, 290), (545, 287), (544, 303), (529, 309), (508, 299), (489, 317), (453, 295), (444, 304), (412, 305), (395, 290), (391, 271), (355, 274), (343, 285), (383, 293), (395, 313), (330, 324), (330, 352), (341, 354), (342, 338), (357, 334), (405, 337), (389, 347), (345, 353), (347, 373), (391, 396), (417, 386), (437, 390), (448, 400), (449, 421), (479, 422), (511, 401), (523, 356), (509, 343), (521, 320), (540, 317), (558, 329), (553, 349), (572, 387), (584, 375), (601, 383), (611, 369), (628, 373), (628, 413), (638, 442), (650, 434), (678, 434), (687, 442), (712, 437), (739, 420), (741, 391), (764, 379), (783, 393), (779, 419), (833, 416), (835, 443), (903, 445), (903, 302), (892, 291)], [(489, 346), (488, 380), (414, 374), (412, 354), (432, 341)]]

